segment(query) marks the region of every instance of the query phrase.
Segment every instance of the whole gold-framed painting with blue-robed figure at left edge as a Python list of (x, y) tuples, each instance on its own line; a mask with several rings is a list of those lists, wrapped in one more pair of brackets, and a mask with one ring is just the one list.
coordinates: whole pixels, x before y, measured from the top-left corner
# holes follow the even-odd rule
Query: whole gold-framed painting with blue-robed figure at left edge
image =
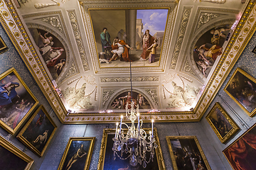
[(38, 103), (16, 69), (11, 68), (0, 75), (0, 125), (11, 135)]

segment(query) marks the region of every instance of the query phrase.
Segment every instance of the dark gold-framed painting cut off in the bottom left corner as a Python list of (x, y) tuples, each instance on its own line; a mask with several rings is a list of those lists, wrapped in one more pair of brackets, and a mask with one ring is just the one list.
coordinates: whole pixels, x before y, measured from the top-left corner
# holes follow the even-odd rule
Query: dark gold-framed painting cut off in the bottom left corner
[(0, 136), (0, 169), (28, 170), (33, 159)]

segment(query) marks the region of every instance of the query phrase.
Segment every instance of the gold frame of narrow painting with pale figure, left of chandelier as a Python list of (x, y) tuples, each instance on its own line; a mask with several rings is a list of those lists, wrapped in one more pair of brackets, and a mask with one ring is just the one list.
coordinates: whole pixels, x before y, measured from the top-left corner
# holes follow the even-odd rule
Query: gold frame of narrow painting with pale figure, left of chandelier
[(95, 140), (96, 140), (96, 137), (70, 137), (70, 139), (68, 140), (68, 145), (65, 147), (65, 152), (63, 154), (63, 157), (61, 158), (60, 165), (58, 166), (58, 170), (63, 169), (65, 159), (68, 156), (70, 145), (72, 144), (73, 141), (90, 141), (90, 147), (87, 152), (87, 158), (85, 161), (85, 168), (84, 168), (84, 170), (88, 170), (90, 167), (90, 160), (92, 158), (92, 151), (95, 145)]

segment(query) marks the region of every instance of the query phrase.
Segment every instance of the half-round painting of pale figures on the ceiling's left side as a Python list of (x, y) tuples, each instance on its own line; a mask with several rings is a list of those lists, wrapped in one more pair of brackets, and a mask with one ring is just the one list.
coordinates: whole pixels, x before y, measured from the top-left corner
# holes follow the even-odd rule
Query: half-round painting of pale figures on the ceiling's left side
[(29, 28), (33, 40), (36, 42), (43, 62), (50, 71), (53, 79), (57, 79), (63, 71), (66, 62), (66, 52), (63, 43), (55, 35), (39, 28)]

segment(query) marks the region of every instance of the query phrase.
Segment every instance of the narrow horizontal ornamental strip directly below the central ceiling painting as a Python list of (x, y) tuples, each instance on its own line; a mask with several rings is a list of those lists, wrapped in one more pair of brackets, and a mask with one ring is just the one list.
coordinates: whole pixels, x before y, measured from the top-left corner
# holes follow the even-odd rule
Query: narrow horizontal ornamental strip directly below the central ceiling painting
[[(111, 82), (129, 82), (130, 77), (100, 77), (101, 83), (111, 83)], [(159, 77), (132, 77), (133, 82), (151, 82), (159, 81)]]

